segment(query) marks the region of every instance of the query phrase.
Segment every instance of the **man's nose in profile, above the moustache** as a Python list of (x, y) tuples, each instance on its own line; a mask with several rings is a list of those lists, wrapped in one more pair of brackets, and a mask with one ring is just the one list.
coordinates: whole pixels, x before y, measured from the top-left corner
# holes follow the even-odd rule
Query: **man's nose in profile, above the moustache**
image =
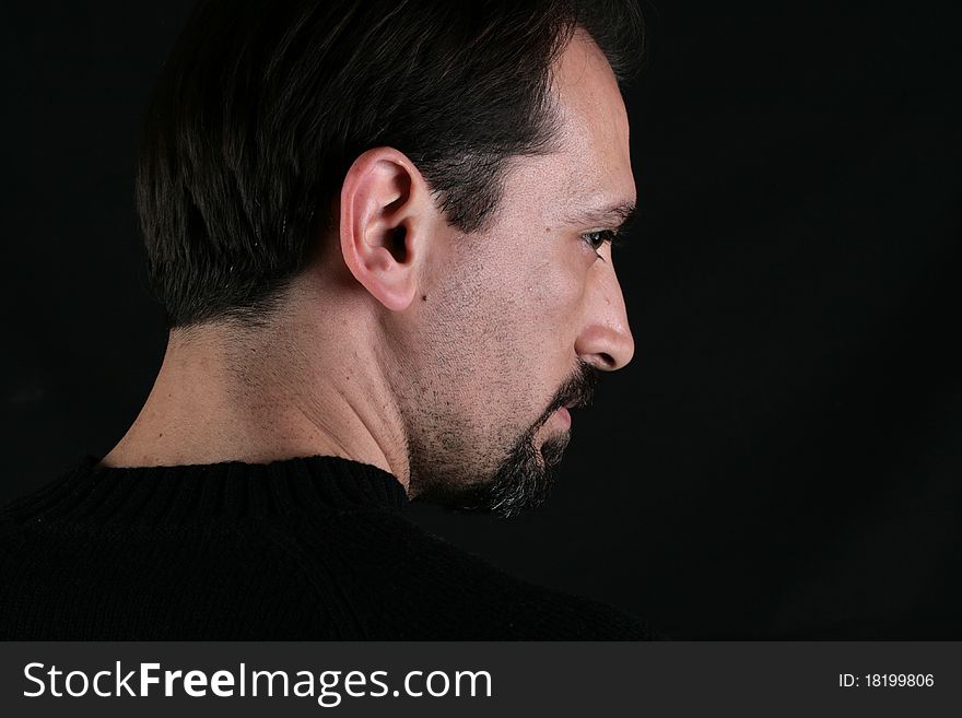
[(613, 372), (631, 362), (635, 341), (614, 268), (609, 264), (605, 270), (603, 279), (590, 290), (586, 321), (575, 342), (575, 352), (591, 366)]

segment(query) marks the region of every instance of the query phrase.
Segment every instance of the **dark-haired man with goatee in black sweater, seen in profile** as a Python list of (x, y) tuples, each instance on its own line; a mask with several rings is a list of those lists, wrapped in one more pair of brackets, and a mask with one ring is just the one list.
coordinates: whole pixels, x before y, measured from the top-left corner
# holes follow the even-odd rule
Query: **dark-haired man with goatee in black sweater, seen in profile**
[(7, 509), (0, 636), (646, 638), (403, 516), (542, 501), (632, 357), (636, 22), (199, 2), (138, 174), (163, 366), (107, 456)]

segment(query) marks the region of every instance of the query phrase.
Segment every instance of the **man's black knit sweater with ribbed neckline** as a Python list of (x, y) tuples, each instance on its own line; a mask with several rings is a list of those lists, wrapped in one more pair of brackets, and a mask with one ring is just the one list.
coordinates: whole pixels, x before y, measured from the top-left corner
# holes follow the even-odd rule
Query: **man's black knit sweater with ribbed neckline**
[(649, 637), (426, 533), (367, 464), (97, 461), (0, 511), (0, 638)]

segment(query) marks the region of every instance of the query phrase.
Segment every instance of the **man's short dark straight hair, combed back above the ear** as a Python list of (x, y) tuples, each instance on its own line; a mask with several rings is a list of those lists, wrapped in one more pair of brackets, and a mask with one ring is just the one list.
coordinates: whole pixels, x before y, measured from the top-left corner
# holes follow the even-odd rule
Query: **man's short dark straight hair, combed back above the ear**
[(619, 80), (631, 0), (200, 0), (148, 106), (137, 203), (171, 328), (262, 323), (330, 227), (351, 163), (403, 152), (484, 227), (505, 162), (550, 149), (551, 63), (578, 27)]

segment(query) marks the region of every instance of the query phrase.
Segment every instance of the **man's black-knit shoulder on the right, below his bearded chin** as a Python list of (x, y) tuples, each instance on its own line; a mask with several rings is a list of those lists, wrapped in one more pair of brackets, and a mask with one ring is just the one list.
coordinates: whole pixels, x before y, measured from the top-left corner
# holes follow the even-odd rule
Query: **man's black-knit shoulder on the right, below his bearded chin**
[(650, 637), (629, 613), (512, 576), (400, 514), (341, 516), (315, 538), (337, 546), (342, 586), (355, 605), (369, 609), (365, 615), (378, 619), (368, 626), (373, 633), (421, 639)]

